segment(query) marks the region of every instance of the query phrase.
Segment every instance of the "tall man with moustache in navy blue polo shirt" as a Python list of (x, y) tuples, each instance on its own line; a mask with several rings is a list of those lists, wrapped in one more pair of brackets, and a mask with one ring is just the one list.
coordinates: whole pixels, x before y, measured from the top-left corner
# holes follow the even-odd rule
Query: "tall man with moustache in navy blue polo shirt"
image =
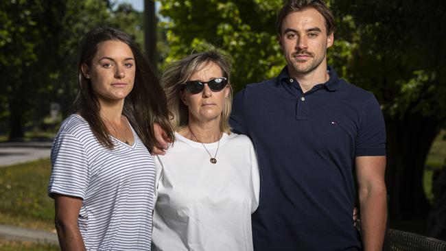
[[(292, 0), (277, 19), (287, 66), (234, 99), (231, 126), (250, 136), (261, 170), (255, 250), (381, 250), (386, 132), (373, 94), (327, 66), (333, 16)], [(362, 240), (353, 227), (357, 179)]]

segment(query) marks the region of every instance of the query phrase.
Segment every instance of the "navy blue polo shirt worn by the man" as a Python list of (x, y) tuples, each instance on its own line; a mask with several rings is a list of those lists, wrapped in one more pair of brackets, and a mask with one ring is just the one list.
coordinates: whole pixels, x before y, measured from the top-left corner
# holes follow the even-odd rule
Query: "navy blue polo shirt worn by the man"
[(386, 130), (372, 93), (338, 78), (303, 93), (287, 67), (249, 84), (230, 123), (257, 150), (260, 204), (255, 250), (361, 250), (353, 227), (356, 156), (386, 154)]

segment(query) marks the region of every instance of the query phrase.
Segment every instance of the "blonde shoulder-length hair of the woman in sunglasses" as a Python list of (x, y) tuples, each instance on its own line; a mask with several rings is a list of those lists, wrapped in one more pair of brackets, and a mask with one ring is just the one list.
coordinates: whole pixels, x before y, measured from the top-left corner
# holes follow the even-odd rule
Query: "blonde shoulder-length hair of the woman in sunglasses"
[[(161, 77), (161, 86), (163, 86), (167, 98), (167, 108), (172, 113), (169, 122), (175, 131), (181, 130), (189, 123), (189, 109), (183, 104), (180, 97), (180, 91), (183, 88), (182, 84), (187, 82), (193, 73), (200, 71), (201, 67), (204, 67), (209, 62), (217, 64), (222, 70), (222, 77), (227, 77), (228, 83), (231, 83), (231, 63), (226, 56), (215, 50), (193, 53), (182, 60), (173, 62), (166, 67)], [(229, 88), (231, 88), (231, 84)], [(232, 101), (233, 91), (231, 88), (228, 97), (224, 101), (220, 119), (220, 131), (227, 134), (231, 133), (229, 116), (231, 115)]]

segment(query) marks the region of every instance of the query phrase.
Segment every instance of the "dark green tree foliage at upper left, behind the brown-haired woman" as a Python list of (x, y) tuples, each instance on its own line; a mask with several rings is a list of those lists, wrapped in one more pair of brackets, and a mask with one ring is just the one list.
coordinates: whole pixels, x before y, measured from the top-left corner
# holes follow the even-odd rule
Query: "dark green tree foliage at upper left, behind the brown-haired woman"
[[(142, 45), (142, 15), (109, 1), (0, 1), (0, 134), (23, 136), (28, 122), (43, 123), (50, 102), (69, 112), (78, 87), (80, 38), (99, 25), (126, 30)], [(6, 121), (9, 120), (7, 124)]]

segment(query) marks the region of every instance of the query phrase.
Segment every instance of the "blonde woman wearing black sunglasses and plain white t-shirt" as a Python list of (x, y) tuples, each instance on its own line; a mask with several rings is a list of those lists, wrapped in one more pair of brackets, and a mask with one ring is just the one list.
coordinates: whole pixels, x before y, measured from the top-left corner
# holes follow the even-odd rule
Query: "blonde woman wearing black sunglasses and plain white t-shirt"
[(253, 250), (259, 204), (253, 144), (231, 133), (231, 65), (216, 51), (169, 65), (161, 79), (174, 143), (156, 160), (154, 250)]

